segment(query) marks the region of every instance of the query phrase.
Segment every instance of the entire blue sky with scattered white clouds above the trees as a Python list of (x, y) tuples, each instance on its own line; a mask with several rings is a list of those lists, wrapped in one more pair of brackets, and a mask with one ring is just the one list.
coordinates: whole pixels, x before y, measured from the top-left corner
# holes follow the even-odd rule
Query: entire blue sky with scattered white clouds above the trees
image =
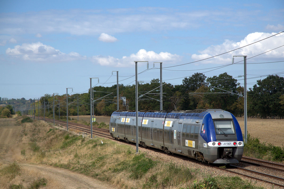
[(227, 72), (244, 86), (244, 58), (232, 64), (233, 56), (247, 56), (252, 88), (284, 77), (282, 31), (282, 0), (0, 0), (0, 97), (84, 93), (90, 78), (116, 85), (116, 71), (119, 84), (133, 85), (135, 61), (149, 63), (137, 63), (139, 82), (160, 78), (154, 62), (163, 62), (162, 80), (173, 85)]

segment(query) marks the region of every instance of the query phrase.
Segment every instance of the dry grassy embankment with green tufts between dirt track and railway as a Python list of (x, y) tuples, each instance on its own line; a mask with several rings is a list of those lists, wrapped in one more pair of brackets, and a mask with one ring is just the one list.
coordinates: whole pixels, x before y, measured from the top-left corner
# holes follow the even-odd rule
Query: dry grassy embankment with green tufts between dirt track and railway
[[(215, 177), (199, 169), (154, 160), (148, 154), (135, 155), (128, 145), (105, 138), (82, 138), (43, 122), (25, 123), (21, 133), (21, 143), (12, 152), (16, 162), (62, 167), (119, 188), (260, 188), (239, 177)], [(18, 174), (23, 174), (16, 162), (9, 165), (14, 168), (1, 166), (1, 177), (9, 181), (10, 188), (32, 188), (33, 182), (26, 186), (24, 181), (13, 183)], [(44, 179), (34, 182), (48, 185)]]

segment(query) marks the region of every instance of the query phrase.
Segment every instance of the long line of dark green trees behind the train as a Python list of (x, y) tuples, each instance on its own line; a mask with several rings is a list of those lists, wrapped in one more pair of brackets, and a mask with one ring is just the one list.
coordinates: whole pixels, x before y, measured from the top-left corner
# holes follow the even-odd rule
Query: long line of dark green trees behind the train
[[(149, 83), (138, 83), (139, 110), (160, 110), (160, 80), (152, 79)], [(110, 116), (116, 111), (116, 85), (111, 87), (93, 87), (95, 115)], [(235, 78), (226, 72), (218, 76), (206, 77), (202, 73), (195, 73), (185, 77), (180, 85), (166, 83), (163, 85), (163, 110), (194, 110), (194, 109), (223, 109), (235, 116), (244, 114), (244, 88)], [(106, 96), (107, 95), (107, 96)], [(135, 110), (135, 84), (119, 84), (119, 97), (126, 98), (122, 110)], [(106, 96), (106, 97), (104, 97)], [(103, 98), (101, 98), (103, 97)], [(30, 99), (31, 100), (31, 99)], [(53, 115), (53, 95), (45, 94), (35, 103), (35, 114)], [(39, 103), (39, 104), (37, 104)], [(45, 107), (45, 111), (42, 108)], [(284, 116), (284, 78), (278, 75), (269, 75), (265, 79), (257, 80), (252, 88), (247, 91), (248, 116), (257, 117), (283, 117)], [(68, 95), (68, 115), (90, 114), (90, 91), (83, 94)], [(55, 115), (66, 115), (66, 95), (55, 96)]]

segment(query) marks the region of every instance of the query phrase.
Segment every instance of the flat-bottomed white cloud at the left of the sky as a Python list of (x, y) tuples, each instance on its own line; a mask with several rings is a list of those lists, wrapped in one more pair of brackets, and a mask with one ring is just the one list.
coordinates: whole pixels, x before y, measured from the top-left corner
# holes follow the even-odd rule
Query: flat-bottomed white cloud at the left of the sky
[(7, 48), (6, 54), (23, 60), (36, 62), (53, 62), (53, 61), (72, 61), (86, 59), (76, 52), (65, 54), (53, 48), (52, 46), (37, 43), (24, 43), (17, 45), (14, 48)]

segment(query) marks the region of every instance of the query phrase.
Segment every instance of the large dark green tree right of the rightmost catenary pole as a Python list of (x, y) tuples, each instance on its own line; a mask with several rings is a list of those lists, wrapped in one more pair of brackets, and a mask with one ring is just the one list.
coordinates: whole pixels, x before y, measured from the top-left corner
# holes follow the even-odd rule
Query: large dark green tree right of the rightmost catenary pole
[(262, 117), (283, 116), (281, 109), (281, 95), (284, 94), (284, 78), (278, 75), (269, 75), (263, 80), (257, 80), (249, 88), (249, 108)]

